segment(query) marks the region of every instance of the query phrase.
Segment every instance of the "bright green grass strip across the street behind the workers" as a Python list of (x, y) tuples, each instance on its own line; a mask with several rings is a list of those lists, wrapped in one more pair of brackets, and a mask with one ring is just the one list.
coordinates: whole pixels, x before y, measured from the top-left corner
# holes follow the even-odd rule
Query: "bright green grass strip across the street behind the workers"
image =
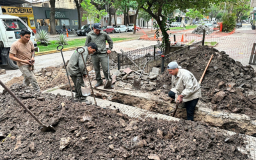
[[(128, 39), (132, 39), (132, 38), (111, 38), (111, 39), (113, 40), (113, 42), (116, 42), (119, 40), (128, 40)], [(86, 38), (68, 40), (67, 41), (68, 45), (64, 45), (64, 48), (83, 46), (85, 44), (85, 40), (86, 40)], [(40, 52), (56, 50), (57, 46), (59, 45), (59, 44), (56, 44), (57, 40), (51, 40), (50, 42), (51, 42), (51, 44), (48, 46), (39, 45), (39, 42), (37, 42), (37, 46), (39, 47)]]

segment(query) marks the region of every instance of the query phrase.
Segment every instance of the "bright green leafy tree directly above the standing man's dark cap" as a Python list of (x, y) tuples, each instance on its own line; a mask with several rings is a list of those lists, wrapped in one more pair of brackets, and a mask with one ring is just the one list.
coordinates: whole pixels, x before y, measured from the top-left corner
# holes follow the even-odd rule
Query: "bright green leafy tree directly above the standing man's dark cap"
[(83, 0), (81, 6), (86, 12), (83, 14), (82, 20), (90, 20), (91, 28), (92, 20), (93, 22), (100, 22), (101, 17), (108, 14), (105, 12), (105, 10), (97, 10), (97, 8), (91, 3), (90, 0)]

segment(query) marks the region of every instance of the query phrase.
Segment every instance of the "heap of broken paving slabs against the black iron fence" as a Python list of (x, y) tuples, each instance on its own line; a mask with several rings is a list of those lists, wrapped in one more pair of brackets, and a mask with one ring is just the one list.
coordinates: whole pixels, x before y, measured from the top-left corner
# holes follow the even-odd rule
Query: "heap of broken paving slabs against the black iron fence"
[[(117, 70), (113, 73), (115, 75), (116, 81), (122, 81), (123, 83), (133, 84), (134, 79), (140, 77), (141, 70), (131, 70), (130, 68)], [(159, 75), (159, 68), (153, 68), (152, 72), (145, 73), (141, 75), (141, 90), (152, 91), (156, 89), (156, 79)], [(122, 87), (122, 85), (119, 85)]]

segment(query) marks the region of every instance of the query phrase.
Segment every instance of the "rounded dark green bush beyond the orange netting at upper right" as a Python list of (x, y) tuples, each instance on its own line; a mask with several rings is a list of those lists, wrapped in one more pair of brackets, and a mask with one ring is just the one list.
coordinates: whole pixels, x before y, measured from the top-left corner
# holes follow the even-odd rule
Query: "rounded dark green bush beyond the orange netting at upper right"
[(230, 13), (223, 15), (222, 22), (222, 31), (230, 32), (236, 27), (236, 17)]

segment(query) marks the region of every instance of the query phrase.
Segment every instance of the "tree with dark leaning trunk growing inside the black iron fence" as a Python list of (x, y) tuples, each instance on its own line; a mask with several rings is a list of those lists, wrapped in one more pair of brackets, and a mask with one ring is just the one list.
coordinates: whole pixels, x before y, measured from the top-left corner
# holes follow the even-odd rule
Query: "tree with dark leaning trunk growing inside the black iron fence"
[(179, 9), (185, 11), (187, 8), (195, 8), (203, 10), (209, 8), (209, 3), (218, 3), (219, 0), (194, 0), (194, 1), (175, 1), (175, 0), (136, 0), (141, 4), (141, 8), (149, 13), (157, 22), (162, 32), (162, 43), (164, 54), (170, 53), (169, 35), (167, 33), (170, 28), (166, 26), (166, 17), (168, 13)]

